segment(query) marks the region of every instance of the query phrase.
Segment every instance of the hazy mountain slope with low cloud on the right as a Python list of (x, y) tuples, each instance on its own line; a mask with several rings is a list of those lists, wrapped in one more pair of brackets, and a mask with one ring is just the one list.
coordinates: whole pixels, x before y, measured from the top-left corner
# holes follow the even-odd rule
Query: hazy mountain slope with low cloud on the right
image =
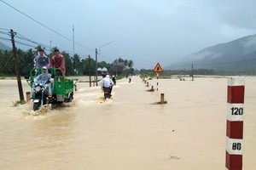
[(256, 35), (219, 43), (186, 56), (166, 70), (212, 69), (215, 71), (252, 71), (256, 69)]

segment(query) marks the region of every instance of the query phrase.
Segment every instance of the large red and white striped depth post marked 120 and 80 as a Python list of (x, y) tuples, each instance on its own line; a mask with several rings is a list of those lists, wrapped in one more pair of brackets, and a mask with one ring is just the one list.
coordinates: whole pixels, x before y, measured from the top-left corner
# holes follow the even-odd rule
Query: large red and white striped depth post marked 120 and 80
[(228, 83), (226, 169), (242, 169), (242, 135), (245, 81), (243, 77), (230, 77)]

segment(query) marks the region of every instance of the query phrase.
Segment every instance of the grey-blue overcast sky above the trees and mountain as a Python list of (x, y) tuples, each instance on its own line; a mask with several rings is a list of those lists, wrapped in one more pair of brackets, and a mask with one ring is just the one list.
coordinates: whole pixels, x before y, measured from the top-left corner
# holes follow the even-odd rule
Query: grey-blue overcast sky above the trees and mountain
[(154, 69), (158, 62), (165, 67), (202, 48), (255, 34), (256, 0), (0, 0), (0, 20), (0, 29), (71, 55), (74, 26), (80, 57), (95, 58), (100, 48), (98, 61), (121, 57), (137, 69)]

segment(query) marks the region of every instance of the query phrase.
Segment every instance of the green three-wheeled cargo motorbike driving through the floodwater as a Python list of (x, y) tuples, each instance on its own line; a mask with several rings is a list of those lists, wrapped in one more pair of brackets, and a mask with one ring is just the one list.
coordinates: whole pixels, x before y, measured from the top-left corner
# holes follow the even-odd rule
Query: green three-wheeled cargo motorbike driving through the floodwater
[[(63, 76), (63, 71), (57, 68), (48, 70), (53, 78), (53, 82), (34, 82), (35, 77), (43, 72), (42, 68), (32, 69), (30, 77), (25, 77), (26, 82), (31, 87), (31, 98), (33, 102), (33, 110), (37, 111), (42, 105), (60, 104), (63, 102), (71, 102), (73, 100), (74, 87), (77, 78), (68, 79)], [(48, 87), (46, 86), (48, 84)], [(49, 96), (47, 88), (51, 88), (52, 95)]]

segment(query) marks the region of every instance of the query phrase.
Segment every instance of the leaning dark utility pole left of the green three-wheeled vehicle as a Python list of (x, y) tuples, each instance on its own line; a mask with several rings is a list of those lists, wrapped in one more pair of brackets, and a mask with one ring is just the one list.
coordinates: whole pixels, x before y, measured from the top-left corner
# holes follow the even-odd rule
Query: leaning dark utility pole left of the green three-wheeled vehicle
[(18, 82), (18, 88), (19, 88), (19, 94), (20, 94), (20, 102), (25, 103), (24, 99), (24, 94), (23, 94), (23, 89), (22, 89), (22, 84), (21, 84), (21, 79), (20, 79), (20, 66), (17, 60), (17, 55), (16, 55), (16, 47), (15, 47), (15, 34), (12, 29), (9, 31), (11, 35), (11, 41), (13, 45), (13, 54), (14, 54), (14, 59), (15, 59), (15, 72), (16, 72), (16, 77), (17, 77), (17, 82)]

